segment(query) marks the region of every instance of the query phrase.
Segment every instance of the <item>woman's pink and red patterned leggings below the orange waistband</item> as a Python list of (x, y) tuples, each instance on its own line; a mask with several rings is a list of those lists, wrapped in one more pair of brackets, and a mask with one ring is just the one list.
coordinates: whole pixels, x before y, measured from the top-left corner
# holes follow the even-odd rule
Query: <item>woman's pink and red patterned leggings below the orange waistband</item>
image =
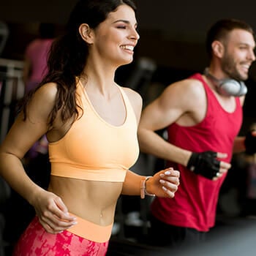
[(108, 241), (98, 243), (81, 238), (67, 230), (47, 233), (37, 217), (20, 237), (13, 256), (104, 256)]

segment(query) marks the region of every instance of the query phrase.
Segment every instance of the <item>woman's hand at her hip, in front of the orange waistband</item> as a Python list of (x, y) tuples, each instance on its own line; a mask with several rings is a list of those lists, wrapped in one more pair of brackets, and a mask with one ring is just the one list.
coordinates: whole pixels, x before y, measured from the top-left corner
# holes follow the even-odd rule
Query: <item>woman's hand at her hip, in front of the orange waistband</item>
[(77, 224), (75, 217), (69, 215), (67, 207), (57, 195), (42, 189), (34, 198), (31, 204), (48, 233), (61, 233)]

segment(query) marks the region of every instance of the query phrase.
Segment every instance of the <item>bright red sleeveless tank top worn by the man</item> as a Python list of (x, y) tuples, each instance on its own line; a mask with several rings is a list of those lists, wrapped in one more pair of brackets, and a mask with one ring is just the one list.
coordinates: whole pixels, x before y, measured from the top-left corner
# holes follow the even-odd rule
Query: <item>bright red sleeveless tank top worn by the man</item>
[[(238, 135), (242, 123), (240, 99), (236, 98), (236, 110), (228, 113), (219, 104), (200, 74), (192, 75), (190, 78), (203, 83), (208, 102), (206, 117), (193, 127), (170, 125), (167, 128), (168, 141), (194, 152), (208, 150), (227, 152), (227, 162), (230, 162), (233, 140)], [(180, 185), (173, 199), (159, 197), (154, 199), (151, 204), (152, 214), (170, 225), (208, 231), (215, 223), (219, 189), (225, 176), (217, 181), (211, 181), (192, 173), (183, 165), (173, 162), (168, 162), (167, 165), (180, 170)]]

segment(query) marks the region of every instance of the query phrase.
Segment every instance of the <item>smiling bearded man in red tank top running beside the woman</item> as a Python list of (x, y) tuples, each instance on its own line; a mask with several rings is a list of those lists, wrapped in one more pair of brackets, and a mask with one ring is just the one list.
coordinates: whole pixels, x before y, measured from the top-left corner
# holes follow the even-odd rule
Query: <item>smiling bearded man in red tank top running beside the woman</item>
[[(256, 151), (250, 132), (237, 137), (249, 67), (255, 61), (252, 28), (241, 20), (219, 20), (208, 31), (209, 67), (203, 75), (167, 86), (140, 119), (141, 151), (180, 170), (173, 199), (151, 204), (151, 244), (174, 246), (204, 240), (214, 226), (219, 189), (232, 153)], [(156, 131), (167, 128), (167, 141)]]

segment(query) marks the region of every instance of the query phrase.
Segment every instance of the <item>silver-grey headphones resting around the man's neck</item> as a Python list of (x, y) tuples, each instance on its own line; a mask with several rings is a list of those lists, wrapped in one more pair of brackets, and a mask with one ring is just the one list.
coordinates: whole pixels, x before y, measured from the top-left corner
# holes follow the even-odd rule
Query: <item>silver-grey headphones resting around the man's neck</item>
[(208, 72), (208, 68), (204, 70), (203, 74), (213, 80), (214, 85), (217, 86), (217, 91), (222, 95), (240, 97), (247, 93), (247, 87), (243, 81), (234, 79), (217, 79)]

